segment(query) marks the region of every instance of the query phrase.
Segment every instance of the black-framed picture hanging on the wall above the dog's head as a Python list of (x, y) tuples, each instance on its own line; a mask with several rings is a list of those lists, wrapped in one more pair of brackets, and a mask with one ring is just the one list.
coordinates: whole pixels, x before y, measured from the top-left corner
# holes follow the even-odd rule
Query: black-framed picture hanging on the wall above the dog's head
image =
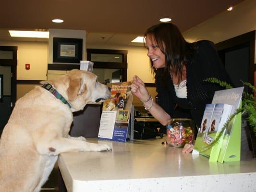
[(83, 39), (53, 37), (53, 62), (80, 63)]

